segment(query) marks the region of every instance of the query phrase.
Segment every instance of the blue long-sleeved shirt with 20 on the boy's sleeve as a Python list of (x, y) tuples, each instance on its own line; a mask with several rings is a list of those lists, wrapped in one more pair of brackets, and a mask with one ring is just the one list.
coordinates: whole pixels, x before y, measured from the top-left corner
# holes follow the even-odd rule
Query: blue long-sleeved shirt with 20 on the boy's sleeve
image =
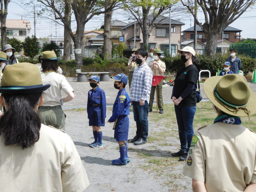
[(130, 97), (125, 91), (125, 88), (121, 89), (116, 96), (115, 103), (113, 105), (112, 116), (108, 121), (114, 122), (119, 116), (130, 114)]

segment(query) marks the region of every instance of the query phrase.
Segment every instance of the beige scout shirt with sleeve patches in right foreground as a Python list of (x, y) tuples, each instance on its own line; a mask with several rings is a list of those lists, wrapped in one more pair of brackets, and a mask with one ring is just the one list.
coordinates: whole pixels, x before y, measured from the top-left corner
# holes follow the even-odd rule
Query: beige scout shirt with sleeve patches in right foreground
[(183, 174), (203, 181), (207, 192), (244, 191), (256, 182), (256, 134), (237, 124), (198, 129)]

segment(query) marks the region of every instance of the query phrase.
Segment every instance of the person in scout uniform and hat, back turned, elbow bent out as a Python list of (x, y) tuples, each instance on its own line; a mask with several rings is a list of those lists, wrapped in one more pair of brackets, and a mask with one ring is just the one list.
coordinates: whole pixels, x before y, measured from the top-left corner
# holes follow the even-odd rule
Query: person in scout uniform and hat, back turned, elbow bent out
[[(60, 59), (57, 58), (54, 51), (43, 52), (41, 60), (42, 81), (44, 84), (52, 86), (44, 91), (44, 104), (39, 106), (38, 115), (43, 124), (65, 130), (65, 114), (61, 106), (74, 99), (74, 90), (65, 76), (56, 73)], [(62, 98), (61, 91), (65, 92), (67, 97)]]

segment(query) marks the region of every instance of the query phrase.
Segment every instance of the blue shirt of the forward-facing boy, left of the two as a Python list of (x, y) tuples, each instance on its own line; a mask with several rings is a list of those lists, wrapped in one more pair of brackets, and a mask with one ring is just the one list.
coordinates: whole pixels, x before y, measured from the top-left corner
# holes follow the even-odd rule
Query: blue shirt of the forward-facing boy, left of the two
[[(102, 118), (106, 118), (106, 96), (105, 92), (100, 89), (98, 86), (95, 90), (91, 89), (88, 92), (88, 100), (87, 100), (87, 113), (93, 108), (92, 105), (100, 105), (101, 116)], [(89, 116), (88, 116), (89, 118)]]

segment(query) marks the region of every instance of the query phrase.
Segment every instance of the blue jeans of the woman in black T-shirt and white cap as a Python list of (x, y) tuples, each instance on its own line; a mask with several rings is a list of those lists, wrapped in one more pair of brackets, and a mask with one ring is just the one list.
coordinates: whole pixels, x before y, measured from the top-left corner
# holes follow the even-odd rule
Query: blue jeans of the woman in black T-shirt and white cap
[(196, 113), (196, 105), (193, 107), (174, 105), (174, 109), (179, 127), (180, 148), (188, 153), (194, 134), (193, 120)]

